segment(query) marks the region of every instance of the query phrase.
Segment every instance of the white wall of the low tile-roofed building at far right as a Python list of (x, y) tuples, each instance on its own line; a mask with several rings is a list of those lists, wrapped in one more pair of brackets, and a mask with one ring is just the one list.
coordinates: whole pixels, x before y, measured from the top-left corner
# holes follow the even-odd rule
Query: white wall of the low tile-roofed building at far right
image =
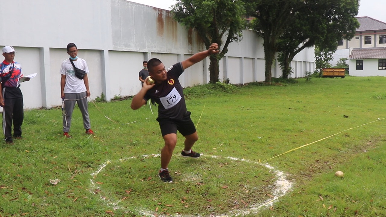
[(356, 59), (350, 59), (352, 76), (386, 76), (386, 70), (378, 69), (378, 59), (363, 59), (363, 70), (356, 70)]

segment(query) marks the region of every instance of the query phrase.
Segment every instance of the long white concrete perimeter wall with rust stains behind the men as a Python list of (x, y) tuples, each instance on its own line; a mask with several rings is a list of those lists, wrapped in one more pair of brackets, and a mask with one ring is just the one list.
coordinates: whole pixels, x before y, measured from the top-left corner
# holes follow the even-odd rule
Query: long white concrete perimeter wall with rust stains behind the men
[[(73, 42), (78, 56), (90, 69), (91, 98), (103, 92), (115, 96), (135, 95), (141, 85), (138, 72), (142, 61), (161, 59), (166, 67), (188, 58), (205, 47), (198, 34), (175, 22), (168, 10), (126, 0), (12, 0), (2, 1), (0, 47), (14, 46), (15, 61), (25, 75), (38, 73), (22, 83), (25, 108), (51, 108), (61, 104), (60, 66), (68, 58), (66, 46)], [(241, 42), (229, 45), (220, 61), (219, 79), (232, 83), (264, 81), (262, 39), (245, 30)], [(314, 67), (313, 49), (305, 49), (294, 61)], [(311, 63), (311, 64), (310, 64)], [(208, 58), (186, 69), (181, 84), (194, 86), (209, 82)], [(297, 68), (295, 77), (306, 68)], [(273, 76), (281, 76), (276, 66)]]

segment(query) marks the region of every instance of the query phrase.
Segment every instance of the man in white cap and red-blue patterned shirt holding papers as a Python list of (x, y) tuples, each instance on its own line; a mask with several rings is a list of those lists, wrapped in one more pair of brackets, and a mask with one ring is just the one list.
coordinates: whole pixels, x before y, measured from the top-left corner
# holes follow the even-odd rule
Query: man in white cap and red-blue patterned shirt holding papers
[[(23, 94), (20, 90), (20, 78), (23, 77), (22, 66), (14, 61), (15, 49), (11, 46), (3, 47), (4, 61), (0, 63), (0, 106), (3, 107), (3, 132), (5, 142), (13, 144), (12, 122), (14, 124), (15, 139), (22, 138), (22, 124), (24, 120)], [(26, 78), (25, 81), (29, 81)]]

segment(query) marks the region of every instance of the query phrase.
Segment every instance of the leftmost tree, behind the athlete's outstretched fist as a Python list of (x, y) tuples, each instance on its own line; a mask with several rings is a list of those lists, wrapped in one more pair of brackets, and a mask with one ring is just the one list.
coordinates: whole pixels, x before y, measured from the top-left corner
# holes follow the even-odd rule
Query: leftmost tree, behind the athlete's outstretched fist
[(220, 59), (228, 52), (231, 42), (242, 39), (246, 26), (244, 3), (240, 0), (177, 0), (171, 12), (177, 22), (196, 30), (207, 49), (214, 42), (218, 44), (220, 53), (209, 57), (210, 83), (216, 83)]

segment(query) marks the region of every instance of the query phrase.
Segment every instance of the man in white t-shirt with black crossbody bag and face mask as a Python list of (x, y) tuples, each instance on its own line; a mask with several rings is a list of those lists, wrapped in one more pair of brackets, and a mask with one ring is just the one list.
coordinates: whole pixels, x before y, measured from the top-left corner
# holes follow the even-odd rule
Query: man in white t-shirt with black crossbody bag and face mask
[[(63, 115), (63, 136), (71, 138), (68, 134), (71, 126), (71, 117), (74, 111), (75, 102), (83, 116), (83, 126), (86, 129), (86, 134), (94, 134), (90, 129), (90, 117), (88, 116), (87, 97), (90, 97), (90, 88), (88, 87), (88, 66), (84, 59), (78, 58), (78, 48), (74, 43), (67, 45), (67, 53), (69, 59), (63, 61), (60, 68), (61, 80), (61, 98), (64, 100), (64, 115)], [(70, 60), (71, 59), (71, 60)], [(71, 63), (72, 62), (72, 63)], [(76, 68), (86, 72), (83, 80), (75, 76)]]

